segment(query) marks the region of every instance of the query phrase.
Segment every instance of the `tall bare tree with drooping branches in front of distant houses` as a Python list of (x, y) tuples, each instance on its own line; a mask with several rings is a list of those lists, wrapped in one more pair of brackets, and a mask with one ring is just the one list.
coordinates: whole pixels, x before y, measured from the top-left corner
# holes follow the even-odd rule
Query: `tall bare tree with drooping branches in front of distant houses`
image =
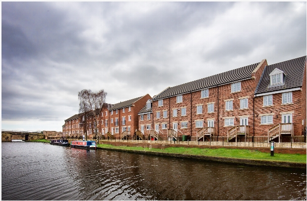
[(106, 95), (107, 93), (103, 89), (98, 92), (92, 92), (90, 89), (83, 89), (82, 91), (78, 92), (80, 123), (82, 123), (81, 125), (83, 125), (83, 133), (85, 134), (86, 139), (87, 116), (93, 117), (94, 122), (93, 127), (91, 127), (91, 129), (94, 129), (95, 137), (97, 138), (97, 125), (99, 123), (98, 118), (99, 114), (102, 111)]

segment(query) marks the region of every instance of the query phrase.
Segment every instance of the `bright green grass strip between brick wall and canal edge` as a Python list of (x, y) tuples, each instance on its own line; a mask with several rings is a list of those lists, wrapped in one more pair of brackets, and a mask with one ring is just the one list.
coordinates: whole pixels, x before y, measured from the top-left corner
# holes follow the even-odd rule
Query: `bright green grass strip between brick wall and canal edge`
[(272, 157), (270, 153), (264, 153), (260, 151), (251, 151), (243, 149), (200, 149), (200, 148), (184, 148), (184, 147), (170, 147), (161, 149), (149, 149), (142, 147), (126, 147), (126, 146), (113, 146), (99, 144), (101, 148), (116, 148), (122, 150), (136, 150), (136, 151), (148, 151), (148, 152), (160, 152), (170, 154), (187, 154), (187, 155), (199, 155), (199, 156), (213, 156), (213, 157), (226, 157), (234, 159), (252, 159), (263, 161), (278, 161), (278, 162), (292, 162), (292, 163), (306, 163), (305, 154), (277, 154), (274, 153)]

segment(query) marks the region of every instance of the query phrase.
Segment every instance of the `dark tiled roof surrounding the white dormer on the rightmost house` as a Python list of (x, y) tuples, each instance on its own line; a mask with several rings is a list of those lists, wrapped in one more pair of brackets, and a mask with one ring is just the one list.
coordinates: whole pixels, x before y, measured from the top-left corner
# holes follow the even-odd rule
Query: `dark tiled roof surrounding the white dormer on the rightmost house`
[[(255, 94), (301, 87), (304, 77), (305, 61), (306, 61), (306, 56), (302, 56), (299, 58), (294, 58), (291, 60), (265, 66), (261, 79), (256, 88)], [(269, 87), (270, 85), (269, 75), (276, 68), (285, 73), (286, 76), (284, 84), (275, 87)]]

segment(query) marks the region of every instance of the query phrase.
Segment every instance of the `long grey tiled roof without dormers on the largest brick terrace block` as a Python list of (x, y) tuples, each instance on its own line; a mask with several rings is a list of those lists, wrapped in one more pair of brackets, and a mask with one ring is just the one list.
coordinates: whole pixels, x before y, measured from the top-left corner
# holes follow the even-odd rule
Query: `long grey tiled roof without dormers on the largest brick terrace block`
[(192, 81), (182, 85), (177, 85), (175, 87), (166, 88), (164, 91), (160, 92), (158, 95), (154, 96), (152, 99), (157, 100), (161, 98), (166, 98), (170, 96), (175, 96), (178, 94), (184, 94), (192, 91), (198, 91), (201, 89), (227, 84), (230, 82), (235, 82), (243, 79), (252, 78), (252, 72), (256, 69), (259, 63), (247, 65), (239, 69), (234, 69), (224, 73), (220, 73), (207, 78), (202, 78), (200, 80)]

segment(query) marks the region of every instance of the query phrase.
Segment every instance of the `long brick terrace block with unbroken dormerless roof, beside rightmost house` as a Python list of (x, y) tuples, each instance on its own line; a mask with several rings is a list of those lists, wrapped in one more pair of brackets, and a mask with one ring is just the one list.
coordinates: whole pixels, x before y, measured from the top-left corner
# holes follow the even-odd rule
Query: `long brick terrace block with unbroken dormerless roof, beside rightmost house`
[[(266, 59), (218, 75), (168, 87), (152, 101), (153, 124), (163, 137), (191, 140), (253, 133), (253, 98)], [(247, 125), (241, 126), (239, 125)], [(238, 131), (238, 132), (236, 132)]]

